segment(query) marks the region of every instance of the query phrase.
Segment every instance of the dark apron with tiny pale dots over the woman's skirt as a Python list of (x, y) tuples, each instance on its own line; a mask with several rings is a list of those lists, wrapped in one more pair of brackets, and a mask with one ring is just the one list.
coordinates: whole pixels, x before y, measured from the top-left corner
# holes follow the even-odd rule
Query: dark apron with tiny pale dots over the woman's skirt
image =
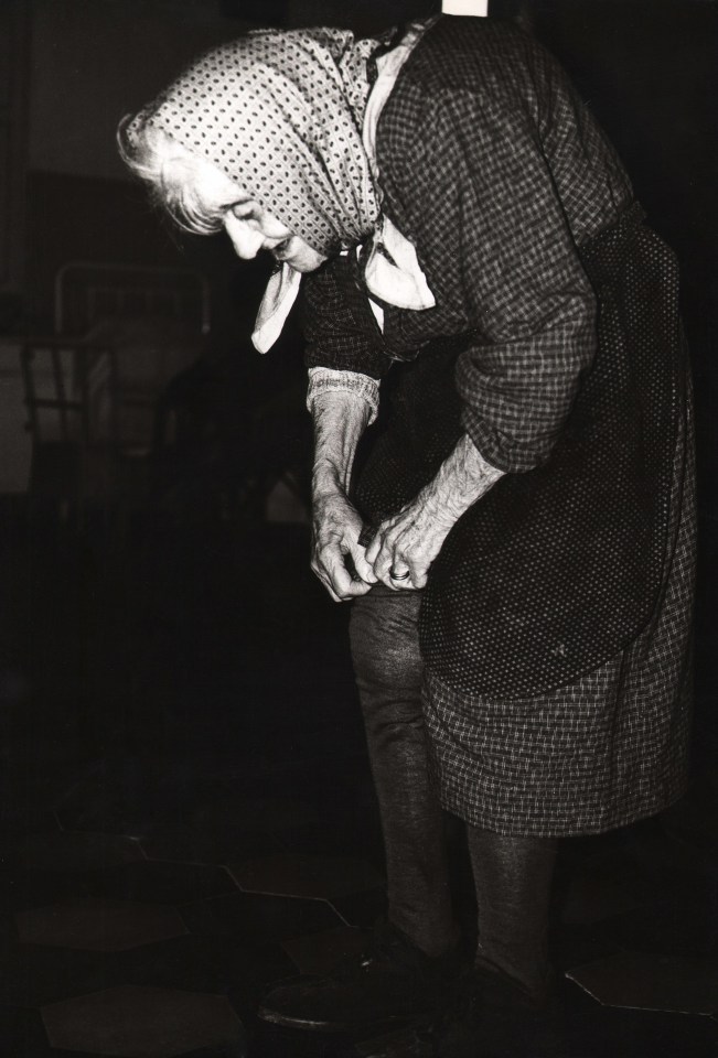
[[(472, 693), (524, 698), (590, 672), (645, 627), (665, 584), (685, 402), (676, 263), (636, 209), (581, 257), (599, 347), (561, 436), (462, 519), (425, 595), (425, 658)], [(470, 604), (467, 553), (491, 564)]]

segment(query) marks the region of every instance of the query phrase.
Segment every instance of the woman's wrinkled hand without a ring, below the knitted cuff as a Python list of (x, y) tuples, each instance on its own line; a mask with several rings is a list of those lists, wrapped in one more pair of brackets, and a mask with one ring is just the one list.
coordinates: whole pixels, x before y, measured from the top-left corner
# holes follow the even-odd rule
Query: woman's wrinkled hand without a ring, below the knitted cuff
[[(336, 490), (314, 497), (312, 516), (313, 572), (335, 603), (365, 595), (376, 576), (358, 542), (364, 528), (358, 511)], [(349, 559), (354, 571), (347, 568)]]

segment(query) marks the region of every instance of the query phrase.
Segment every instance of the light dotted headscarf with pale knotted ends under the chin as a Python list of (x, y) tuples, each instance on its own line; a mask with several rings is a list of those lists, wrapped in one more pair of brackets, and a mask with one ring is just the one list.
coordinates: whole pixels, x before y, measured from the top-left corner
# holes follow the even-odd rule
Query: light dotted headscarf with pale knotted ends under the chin
[[(203, 55), (127, 128), (162, 129), (225, 172), (309, 246), (329, 256), (371, 237), (367, 283), (405, 307), (432, 305), (414, 247), (379, 214), (371, 158), (381, 110), (364, 121), (369, 57), (389, 63), (384, 85), (425, 32), (412, 24), (398, 45), (395, 31), (354, 41), (333, 29), (260, 30)], [(364, 127), (364, 128), (363, 128)], [(253, 343), (266, 353), (299, 293), (287, 262), (271, 276)]]

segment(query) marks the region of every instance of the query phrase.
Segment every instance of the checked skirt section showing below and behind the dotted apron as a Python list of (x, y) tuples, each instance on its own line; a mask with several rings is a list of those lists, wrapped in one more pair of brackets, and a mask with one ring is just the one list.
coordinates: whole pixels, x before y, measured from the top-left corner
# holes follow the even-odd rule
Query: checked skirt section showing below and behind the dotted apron
[(426, 671), (431, 768), (444, 808), (503, 834), (590, 834), (652, 816), (683, 795), (692, 704), (693, 483), (688, 418), (671, 487), (665, 593), (641, 636), (609, 662), (569, 687), (523, 701), (460, 693)]

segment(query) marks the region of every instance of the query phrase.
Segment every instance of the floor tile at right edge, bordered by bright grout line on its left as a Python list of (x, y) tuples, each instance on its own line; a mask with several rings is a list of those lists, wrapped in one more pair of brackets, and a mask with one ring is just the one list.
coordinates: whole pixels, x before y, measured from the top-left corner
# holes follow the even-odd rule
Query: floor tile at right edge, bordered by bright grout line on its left
[(710, 1015), (718, 1010), (718, 959), (620, 952), (568, 976), (607, 1006)]

